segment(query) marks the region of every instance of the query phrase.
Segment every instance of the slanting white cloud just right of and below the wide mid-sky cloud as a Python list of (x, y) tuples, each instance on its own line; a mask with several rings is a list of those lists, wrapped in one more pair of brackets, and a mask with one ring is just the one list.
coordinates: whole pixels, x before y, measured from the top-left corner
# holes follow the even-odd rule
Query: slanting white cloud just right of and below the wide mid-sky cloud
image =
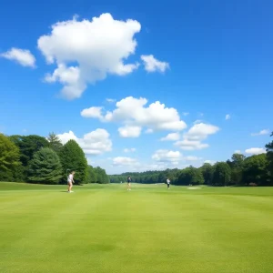
[(192, 126), (183, 139), (175, 143), (175, 146), (183, 150), (200, 150), (208, 147), (208, 144), (202, 143), (207, 136), (216, 134), (219, 128), (205, 123), (198, 123)]

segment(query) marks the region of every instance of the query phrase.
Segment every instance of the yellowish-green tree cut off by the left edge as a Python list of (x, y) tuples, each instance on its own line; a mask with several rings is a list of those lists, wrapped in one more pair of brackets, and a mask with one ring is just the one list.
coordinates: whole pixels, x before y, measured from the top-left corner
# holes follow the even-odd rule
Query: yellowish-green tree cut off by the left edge
[(15, 180), (15, 169), (20, 167), (19, 149), (9, 139), (0, 134), (0, 179), (3, 181)]

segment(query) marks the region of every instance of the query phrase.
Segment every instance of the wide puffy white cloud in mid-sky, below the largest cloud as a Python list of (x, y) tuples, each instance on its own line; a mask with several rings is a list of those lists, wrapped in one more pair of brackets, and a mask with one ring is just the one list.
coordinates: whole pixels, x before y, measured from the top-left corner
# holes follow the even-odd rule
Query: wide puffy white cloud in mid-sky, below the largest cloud
[[(159, 101), (149, 106), (146, 105), (146, 98), (128, 96), (116, 102), (116, 109), (113, 112), (107, 112), (105, 116), (101, 114), (100, 107), (84, 109), (81, 115), (84, 117), (98, 117), (106, 122), (121, 122), (125, 124), (125, 127), (119, 128), (119, 133), (124, 137), (131, 135), (131, 137), (136, 137), (137, 132), (140, 134), (140, 127), (144, 126), (147, 127), (147, 132), (156, 130), (180, 131), (187, 127), (186, 123), (180, 119), (177, 109), (168, 108)], [(96, 112), (96, 115), (94, 112)], [(128, 131), (134, 131), (135, 134), (129, 134)]]

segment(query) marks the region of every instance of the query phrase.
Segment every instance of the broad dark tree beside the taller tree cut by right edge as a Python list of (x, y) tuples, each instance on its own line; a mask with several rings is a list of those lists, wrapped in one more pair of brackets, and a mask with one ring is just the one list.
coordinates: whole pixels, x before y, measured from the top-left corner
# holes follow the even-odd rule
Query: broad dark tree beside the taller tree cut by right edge
[(244, 161), (243, 179), (245, 183), (268, 185), (268, 160), (266, 154), (248, 157)]

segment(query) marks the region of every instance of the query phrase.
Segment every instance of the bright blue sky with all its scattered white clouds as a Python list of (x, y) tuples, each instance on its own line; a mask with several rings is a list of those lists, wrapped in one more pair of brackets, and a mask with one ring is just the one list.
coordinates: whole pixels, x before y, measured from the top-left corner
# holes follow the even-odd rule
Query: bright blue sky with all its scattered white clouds
[(109, 174), (262, 153), (273, 125), (272, 8), (5, 2), (0, 131), (75, 138)]

